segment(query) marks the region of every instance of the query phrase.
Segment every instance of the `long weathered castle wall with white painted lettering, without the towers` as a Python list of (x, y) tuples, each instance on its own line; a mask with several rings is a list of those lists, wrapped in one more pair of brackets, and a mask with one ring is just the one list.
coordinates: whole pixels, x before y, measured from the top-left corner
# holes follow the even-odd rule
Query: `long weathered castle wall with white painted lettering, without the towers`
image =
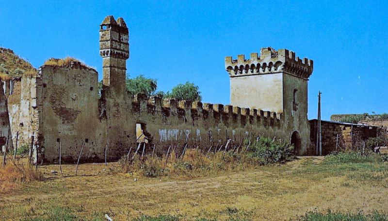
[(229, 147), (259, 136), (290, 139), (283, 115), (274, 112), (143, 94), (107, 99), (109, 91), (104, 90), (98, 98), (97, 73), (79, 66), (42, 66), (37, 88), (38, 161), (56, 162), (59, 141), (65, 162), (77, 159), (83, 142), (82, 161), (102, 161), (106, 145), (108, 159), (117, 160), (138, 146), (136, 124), (147, 135), (146, 148), (156, 145), (156, 152), (186, 143), (209, 148), (225, 146), (228, 139)]

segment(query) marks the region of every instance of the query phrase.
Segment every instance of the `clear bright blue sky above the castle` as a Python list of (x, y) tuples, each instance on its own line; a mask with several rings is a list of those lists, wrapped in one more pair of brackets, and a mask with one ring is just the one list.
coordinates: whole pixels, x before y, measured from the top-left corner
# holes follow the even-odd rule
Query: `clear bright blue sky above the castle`
[(0, 44), (39, 67), (72, 56), (97, 68), (99, 24), (129, 27), (130, 76), (169, 90), (191, 81), (203, 102), (229, 103), (225, 56), (287, 48), (314, 60), (308, 118), (388, 112), (387, 1), (2, 1)]

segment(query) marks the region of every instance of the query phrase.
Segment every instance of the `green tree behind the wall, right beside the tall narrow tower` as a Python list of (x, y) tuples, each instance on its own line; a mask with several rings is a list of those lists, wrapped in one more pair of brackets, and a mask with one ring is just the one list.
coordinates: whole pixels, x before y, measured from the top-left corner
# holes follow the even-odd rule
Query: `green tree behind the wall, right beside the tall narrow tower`
[(127, 86), (127, 91), (131, 94), (144, 93), (147, 96), (153, 95), (158, 87), (155, 79), (146, 78), (144, 75), (139, 75), (135, 78), (129, 78), (129, 75), (127, 75), (125, 84)]

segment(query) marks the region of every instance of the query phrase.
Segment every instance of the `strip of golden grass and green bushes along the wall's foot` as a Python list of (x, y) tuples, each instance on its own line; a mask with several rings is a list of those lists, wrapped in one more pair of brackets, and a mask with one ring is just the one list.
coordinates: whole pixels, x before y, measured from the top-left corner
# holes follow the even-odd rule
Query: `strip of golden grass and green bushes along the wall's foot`
[(124, 156), (119, 165), (125, 173), (144, 177), (183, 176), (196, 177), (216, 171), (239, 171), (270, 163), (284, 163), (294, 158), (293, 147), (281, 140), (260, 138), (255, 142), (246, 141), (241, 147), (171, 148), (166, 155)]

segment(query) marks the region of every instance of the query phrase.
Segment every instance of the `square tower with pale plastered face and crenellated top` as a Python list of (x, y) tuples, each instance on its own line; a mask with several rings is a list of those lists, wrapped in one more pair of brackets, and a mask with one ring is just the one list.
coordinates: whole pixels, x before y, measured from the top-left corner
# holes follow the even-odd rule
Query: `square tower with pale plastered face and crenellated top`
[[(250, 59), (238, 55), (226, 57), (225, 68), (230, 77), (230, 104), (282, 113), (283, 130), (301, 139), (298, 154), (306, 154), (309, 144), (307, 120), (307, 81), (313, 71), (313, 61), (295, 57), (287, 49), (276, 51), (262, 48), (260, 57), (252, 53)], [(296, 139), (296, 138), (295, 138)], [(292, 143), (292, 139), (291, 139)], [(298, 148), (298, 147), (297, 147)]]

